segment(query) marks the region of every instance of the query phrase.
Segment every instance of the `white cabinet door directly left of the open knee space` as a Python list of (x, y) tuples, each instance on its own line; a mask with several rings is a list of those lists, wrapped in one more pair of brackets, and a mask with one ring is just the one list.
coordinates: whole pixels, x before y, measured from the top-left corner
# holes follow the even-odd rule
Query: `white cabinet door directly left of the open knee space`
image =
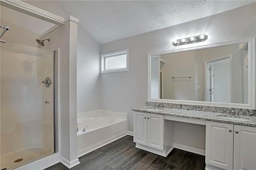
[(164, 115), (148, 113), (148, 146), (164, 150)]

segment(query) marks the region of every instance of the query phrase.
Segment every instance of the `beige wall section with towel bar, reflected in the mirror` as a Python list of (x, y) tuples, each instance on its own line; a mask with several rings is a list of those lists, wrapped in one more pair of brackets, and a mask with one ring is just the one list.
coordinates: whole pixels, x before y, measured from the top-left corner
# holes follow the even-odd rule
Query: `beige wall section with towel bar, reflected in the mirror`
[[(163, 72), (163, 99), (195, 100), (195, 52), (161, 55), (166, 61)], [(188, 78), (191, 76), (191, 78)], [(186, 77), (174, 78), (172, 77)]]

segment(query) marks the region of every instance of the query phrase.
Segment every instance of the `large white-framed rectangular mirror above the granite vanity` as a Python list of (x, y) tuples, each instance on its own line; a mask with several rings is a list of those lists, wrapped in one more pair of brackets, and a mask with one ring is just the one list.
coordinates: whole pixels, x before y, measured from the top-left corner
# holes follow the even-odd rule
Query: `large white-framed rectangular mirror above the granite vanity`
[(150, 99), (252, 107), (253, 48), (252, 39), (152, 54)]

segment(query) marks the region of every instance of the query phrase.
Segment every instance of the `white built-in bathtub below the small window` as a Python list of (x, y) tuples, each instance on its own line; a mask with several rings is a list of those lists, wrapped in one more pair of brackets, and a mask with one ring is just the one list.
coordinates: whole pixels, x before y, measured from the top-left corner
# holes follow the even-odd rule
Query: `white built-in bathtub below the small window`
[(78, 157), (127, 134), (127, 113), (95, 110), (78, 113), (77, 118)]

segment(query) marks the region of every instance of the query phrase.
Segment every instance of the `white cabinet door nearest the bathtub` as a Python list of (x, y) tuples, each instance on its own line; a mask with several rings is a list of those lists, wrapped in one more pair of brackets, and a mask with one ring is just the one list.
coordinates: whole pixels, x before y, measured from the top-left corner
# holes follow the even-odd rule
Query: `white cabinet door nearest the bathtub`
[(147, 145), (147, 113), (134, 112), (133, 120), (133, 141)]

